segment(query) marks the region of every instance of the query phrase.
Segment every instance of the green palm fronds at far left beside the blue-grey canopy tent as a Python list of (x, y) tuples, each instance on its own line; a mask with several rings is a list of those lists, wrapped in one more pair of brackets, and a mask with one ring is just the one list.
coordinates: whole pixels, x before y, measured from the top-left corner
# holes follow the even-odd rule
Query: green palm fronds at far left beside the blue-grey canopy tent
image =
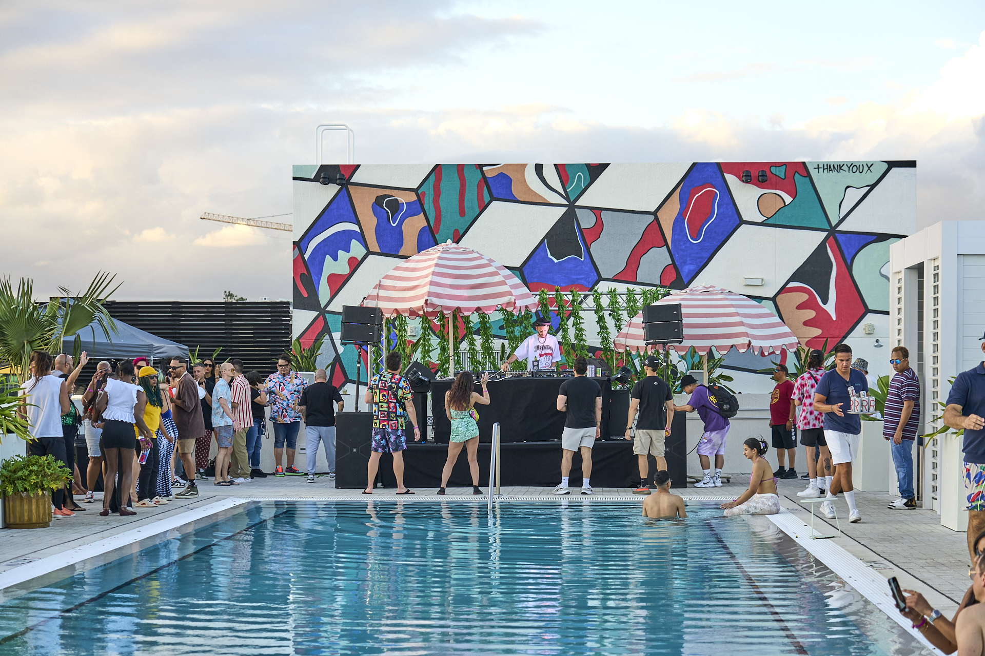
[(115, 277), (99, 271), (81, 295), (72, 296), (68, 288), (59, 287), (57, 302), (44, 304), (34, 301), (31, 278), (21, 278), (16, 291), (10, 277), (0, 279), (0, 360), (10, 363), (12, 373), (23, 383), (33, 351), (59, 353), (63, 340), (72, 336), (78, 349), (79, 331), (93, 322), (111, 339), (116, 325), (102, 303), (119, 289), (119, 285), (109, 289)]

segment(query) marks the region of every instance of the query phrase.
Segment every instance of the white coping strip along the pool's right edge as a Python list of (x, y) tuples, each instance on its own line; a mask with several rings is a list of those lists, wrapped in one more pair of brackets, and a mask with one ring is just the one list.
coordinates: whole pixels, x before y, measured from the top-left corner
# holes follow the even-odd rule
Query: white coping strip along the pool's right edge
[(821, 561), (825, 567), (841, 577), (870, 603), (883, 611), (886, 617), (916, 638), (925, 648), (931, 650), (932, 653), (944, 656), (943, 651), (931, 644), (919, 630), (912, 627), (908, 619), (896, 610), (892, 597), (889, 595), (886, 576), (848, 553), (841, 545), (831, 540), (817, 540), (810, 537), (811, 527), (787, 508), (781, 508), (778, 514), (765, 516), (801, 548)]

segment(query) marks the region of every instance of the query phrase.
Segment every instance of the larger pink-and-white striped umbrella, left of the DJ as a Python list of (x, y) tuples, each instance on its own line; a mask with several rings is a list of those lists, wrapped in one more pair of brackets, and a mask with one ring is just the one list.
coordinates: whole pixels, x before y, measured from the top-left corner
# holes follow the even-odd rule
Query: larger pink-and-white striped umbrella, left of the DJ
[(383, 316), (426, 316), (458, 311), (490, 314), (498, 309), (521, 313), (536, 310), (537, 299), (499, 263), (448, 241), (411, 256), (379, 279), (363, 306), (378, 307)]

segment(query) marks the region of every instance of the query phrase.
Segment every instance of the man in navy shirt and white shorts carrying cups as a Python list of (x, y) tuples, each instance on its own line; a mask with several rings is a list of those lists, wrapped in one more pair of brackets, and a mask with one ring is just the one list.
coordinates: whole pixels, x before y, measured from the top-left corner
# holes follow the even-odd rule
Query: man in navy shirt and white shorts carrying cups
[(862, 421), (858, 415), (848, 413), (852, 396), (869, 391), (865, 374), (852, 369), (852, 347), (838, 344), (834, 347), (834, 369), (821, 377), (814, 390), (814, 409), (824, 414), (824, 440), (831, 451), (831, 464), (834, 475), (827, 489), (827, 501), (821, 504), (821, 512), (834, 517), (831, 501), (844, 490), (848, 502), (848, 521), (862, 521), (862, 515), (855, 506), (855, 488), (852, 487), (852, 460), (859, 447), (859, 433)]

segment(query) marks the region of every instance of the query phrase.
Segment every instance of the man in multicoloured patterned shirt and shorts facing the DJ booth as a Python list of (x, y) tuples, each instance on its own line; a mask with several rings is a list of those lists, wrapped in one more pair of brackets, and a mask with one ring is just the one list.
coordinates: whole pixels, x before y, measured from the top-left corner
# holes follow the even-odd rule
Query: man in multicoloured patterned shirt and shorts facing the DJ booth
[(404, 408), (414, 425), (414, 441), (421, 440), (418, 427), (418, 413), (414, 407), (411, 385), (400, 375), (400, 353), (391, 351), (386, 356), (386, 373), (377, 374), (369, 381), (363, 400), (374, 403), (372, 411), (372, 452), (366, 465), (368, 482), (364, 495), (372, 494), (373, 481), (379, 470), (381, 453), (393, 453), (393, 474), (397, 479), (398, 495), (413, 495), (404, 487), (404, 450), (407, 439), (404, 436)]

